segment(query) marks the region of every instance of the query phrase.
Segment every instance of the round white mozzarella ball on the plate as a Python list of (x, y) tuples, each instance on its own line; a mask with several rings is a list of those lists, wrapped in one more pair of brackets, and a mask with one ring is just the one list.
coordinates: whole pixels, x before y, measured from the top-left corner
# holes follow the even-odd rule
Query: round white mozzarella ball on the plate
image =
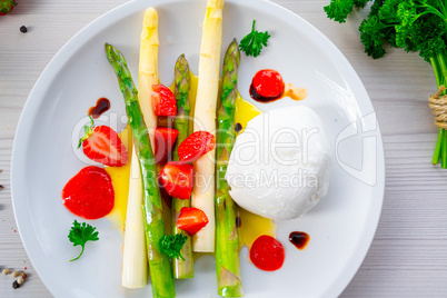
[(226, 179), (242, 208), (274, 220), (302, 216), (326, 196), (330, 147), (320, 118), (302, 106), (250, 120), (235, 142)]

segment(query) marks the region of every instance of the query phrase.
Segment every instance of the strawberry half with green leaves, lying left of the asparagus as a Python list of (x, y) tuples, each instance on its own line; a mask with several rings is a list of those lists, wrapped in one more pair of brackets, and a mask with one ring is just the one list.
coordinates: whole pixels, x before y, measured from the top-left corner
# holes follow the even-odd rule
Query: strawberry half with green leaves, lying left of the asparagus
[(128, 152), (118, 133), (107, 126), (95, 127), (90, 117), (90, 127), (85, 126), (86, 135), (79, 140), (83, 153), (93, 161), (110, 167), (121, 167), (128, 162)]

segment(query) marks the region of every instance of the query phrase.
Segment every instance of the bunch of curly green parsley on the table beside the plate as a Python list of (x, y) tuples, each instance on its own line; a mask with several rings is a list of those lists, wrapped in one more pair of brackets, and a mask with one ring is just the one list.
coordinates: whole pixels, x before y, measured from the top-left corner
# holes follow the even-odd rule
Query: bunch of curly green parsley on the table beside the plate
[[(328, 18), (345, 22), (355, 7), (367, 1), (371, 0), (330, 0), (324, 9)], [(447, 86), (446, 0), (375, 0), (359, 31), (365, 52), (374, 59), (384, 57), (387, 46), (419, 52), (431, 64), (438, 89)], [(431, 162), (437, 165), (440, 159), (441, 167), (447, 168), (446, 122), (436, 122), (439, 135)]]

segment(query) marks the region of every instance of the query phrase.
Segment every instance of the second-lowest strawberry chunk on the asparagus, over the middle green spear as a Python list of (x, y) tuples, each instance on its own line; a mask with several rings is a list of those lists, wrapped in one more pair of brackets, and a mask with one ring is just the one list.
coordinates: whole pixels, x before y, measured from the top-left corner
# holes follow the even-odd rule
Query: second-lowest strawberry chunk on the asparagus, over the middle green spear
[(193, 185), (193, 166), (170, 161), (160, 171), (161, 185), (173, 198), (188, 200)]

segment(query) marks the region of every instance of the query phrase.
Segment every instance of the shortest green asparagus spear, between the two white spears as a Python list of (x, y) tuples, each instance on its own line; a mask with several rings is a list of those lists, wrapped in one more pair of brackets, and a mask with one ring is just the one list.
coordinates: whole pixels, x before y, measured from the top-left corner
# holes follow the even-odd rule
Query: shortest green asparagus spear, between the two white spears
[[(179, 160), (178, 148), (179, 145), (188, 137), (189, 132), (189, 89), (191, 88), (191, 80), (189, 76), (188, 61), (185, 54), (181, 54), (176, 62), (175, 77), (173, 77), (175, 91), (173, 95), (177, 100), (177, 117), (175, 119), (175, 127), (179, 131), (177, 136), (176, 147), (172, 152), (175, 161)], [(178, 279), (186, 279), (193, 277), (193, 256), (192, 256), (192, 239), (188, 232), (177, 228), (177, 219), (180, 210), (183, 207), (191, 207), (191, 200), (181, 200), (172, 198), (172, 235), (181, 234), (188, 237), (183, 247), (180, 250), (182, 259), (172, 259), (173, 277)]]

